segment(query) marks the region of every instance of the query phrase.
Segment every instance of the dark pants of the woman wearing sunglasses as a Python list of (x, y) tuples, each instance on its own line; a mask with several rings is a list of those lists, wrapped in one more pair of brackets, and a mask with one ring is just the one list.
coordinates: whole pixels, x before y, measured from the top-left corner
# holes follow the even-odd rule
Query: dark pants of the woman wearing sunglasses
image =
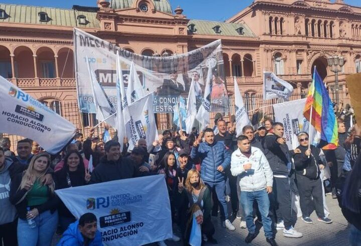
[[(317, 216), (324, 217), (321, 179), (310, 179), (308, 177), (297, 174), (296, 181), (300, 195), (302, 216), (309, 217), (313, 211), (314, 206)], [(311, 195), (313, 197), (313, 202)]]

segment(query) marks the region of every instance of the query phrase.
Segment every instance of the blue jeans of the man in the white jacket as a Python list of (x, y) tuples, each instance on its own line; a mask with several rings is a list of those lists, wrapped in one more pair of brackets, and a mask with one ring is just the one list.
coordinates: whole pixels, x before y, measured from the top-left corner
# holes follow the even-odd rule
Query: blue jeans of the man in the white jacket
[(266, 189), (257, 191), (241, 191), (241, 206), (246, 216), (246, 224), (249, 233), (255, 233), (256, 225), (253, 222), (253, 202), (257, 201), (261, 213), (263, 230), (266, 238), (273, 238), (272, 220), (268, 214), (269, 198)]

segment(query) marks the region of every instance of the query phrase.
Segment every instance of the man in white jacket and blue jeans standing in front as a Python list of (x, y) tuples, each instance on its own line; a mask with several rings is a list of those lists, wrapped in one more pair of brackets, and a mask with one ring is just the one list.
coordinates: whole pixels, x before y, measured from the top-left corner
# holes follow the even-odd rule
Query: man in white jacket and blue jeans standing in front
[(250, 243), (256, 235), (253, 222), (253, 202), (257, 201), (261, 213), (266, 240), (271, 245), (277, 245), (272, 231), (272, 220), (268, 214), (269, 198), (272, 192), (273, 173), (266, 156), (261, 149), (251, 147), (247, 136), (237, 138), (238, 149), (232, 153), (231, 172), (240, 178), (241, 206), (246, 216), (248, 235), (245, 239)]

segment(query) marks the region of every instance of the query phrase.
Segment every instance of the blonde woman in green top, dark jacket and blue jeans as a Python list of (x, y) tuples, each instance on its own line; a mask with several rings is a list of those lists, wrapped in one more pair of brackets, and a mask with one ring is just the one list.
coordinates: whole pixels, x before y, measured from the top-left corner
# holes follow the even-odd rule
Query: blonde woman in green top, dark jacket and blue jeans
[(19, 246), (51, 245), (58, 224), (58, 199), (54, 183), (46, 185), (44, 176), (50, 166), (46, 152), (35, 155), (25, 173), (12, 180), (10, 201), (18, 213)]

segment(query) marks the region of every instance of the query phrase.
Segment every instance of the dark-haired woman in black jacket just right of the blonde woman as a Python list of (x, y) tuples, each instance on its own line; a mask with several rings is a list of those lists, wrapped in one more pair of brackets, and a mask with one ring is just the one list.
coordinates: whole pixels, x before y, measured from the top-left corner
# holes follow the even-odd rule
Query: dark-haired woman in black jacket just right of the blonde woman
[[(82, 163), (82, 164), (79, 164)], [(83, 158), (79, 151), (71, 150), (65, 155), (64, 167), (55, 172), (55, 189), (63, 189), (85, 185), (90, 180), (90, 172), (83, 165)], [(58, 206), (59, 224), (65, 231), (76, 218), (61, 201)]]

